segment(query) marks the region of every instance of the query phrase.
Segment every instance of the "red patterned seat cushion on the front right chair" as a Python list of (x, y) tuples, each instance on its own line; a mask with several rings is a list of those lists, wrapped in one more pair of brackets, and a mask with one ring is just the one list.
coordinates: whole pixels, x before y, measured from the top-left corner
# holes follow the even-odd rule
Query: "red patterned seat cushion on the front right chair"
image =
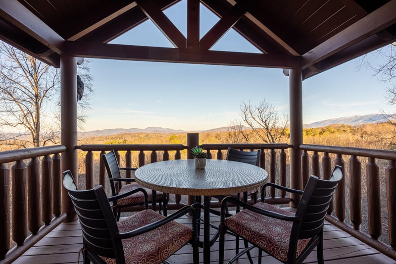
[[(284, 215), (294, 215), (290, 211), (266, 203), (257, 203), (254, 206)], [(227, 217), (225, 222), (227, 227), (233, 232), (261, 247), (278, 260), (287, 261), (293, 222), (268, 217), (247, 209)], [(308, 242), (309, 239), (298, 240), (296, 258)]]

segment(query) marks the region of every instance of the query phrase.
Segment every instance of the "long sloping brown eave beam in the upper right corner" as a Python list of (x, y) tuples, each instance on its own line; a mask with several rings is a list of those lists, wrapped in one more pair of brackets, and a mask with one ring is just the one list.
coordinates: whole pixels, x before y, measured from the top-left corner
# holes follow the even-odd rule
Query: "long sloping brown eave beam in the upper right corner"
[(396, 23), (396, 0), (384, 4), (377, 10), (356, 21), (332, 38), (302, 55), (303, 68), (309, 67), (335, 53)]

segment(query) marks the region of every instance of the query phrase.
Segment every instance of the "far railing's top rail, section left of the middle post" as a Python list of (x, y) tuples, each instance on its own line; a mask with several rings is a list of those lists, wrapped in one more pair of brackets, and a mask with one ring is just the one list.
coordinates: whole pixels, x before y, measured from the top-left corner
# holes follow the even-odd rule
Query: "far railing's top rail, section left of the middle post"
[(95, 144), (81, 145), (76, 149), (82, 151), (180, 151), (187, 149), (183, 144)]

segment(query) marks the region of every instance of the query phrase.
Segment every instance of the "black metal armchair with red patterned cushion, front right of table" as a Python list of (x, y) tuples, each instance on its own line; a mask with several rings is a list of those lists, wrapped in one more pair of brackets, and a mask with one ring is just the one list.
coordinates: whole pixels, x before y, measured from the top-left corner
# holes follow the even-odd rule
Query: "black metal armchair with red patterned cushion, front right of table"
[[(254, 247), (260, 249), (259, 263), (261, 250), (283, 263), (302, 263), (315, 247), (318, 263), (323, 263), (323, 224), (334, 190), (342, 178), (341, 167), (336, 165), (329, 180), (310, 176), (304, 191), (274, 183), (266, 183), (263, 186), (261, 201), (264, 201), (267, 186), (301, 194), (296, 213), (263, 202), (251, 206), (233, 197), (223, 199), (219, 225), (219, 263), (224, 261), (226, 231), (238, 234), (253, 245), (241, 251), (229, 263)], [(239, 204), (245, 209), (233, 216), (225, 217), (228, 203)], [(250, 256), (249, 260), (252, 262)]]

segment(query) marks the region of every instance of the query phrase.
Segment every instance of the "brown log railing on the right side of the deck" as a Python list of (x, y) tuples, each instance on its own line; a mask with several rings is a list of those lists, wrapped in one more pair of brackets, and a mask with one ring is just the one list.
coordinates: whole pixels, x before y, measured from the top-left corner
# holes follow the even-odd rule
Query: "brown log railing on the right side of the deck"
[[(342, 166), (344, 177), (336, 189), (334, 213), (331, 215), (330, 208), (327, 220), (396, 259), (396, 152), (318, 145), (301, 145), (300, 149), (304, 186), (310, 174), (328, 179), (332, 159), (334, 165)], [(365, 169), (362, 161), (366, 163)], [(367, 205), (362, 205), (362, 201)], [(388, 218), (387, 224), (383, 224), (382, 216)], [(361, 230), (363, 220), (367, 221), (364, 228), (367, 232)], [(379, 240), (385, 231), (390, 246)]]

